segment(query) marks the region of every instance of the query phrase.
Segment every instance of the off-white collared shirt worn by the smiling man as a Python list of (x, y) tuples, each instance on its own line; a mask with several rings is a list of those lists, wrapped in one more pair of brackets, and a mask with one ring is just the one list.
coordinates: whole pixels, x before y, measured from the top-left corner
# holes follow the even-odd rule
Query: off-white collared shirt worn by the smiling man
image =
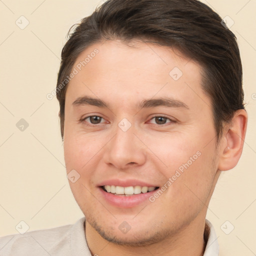
[[(85, 217), (72, 225), (0, 237), (0, 256), (91, 256), (84, 221)], [(216, 233), (211, 223), (205, 221), (210, 233), (203, 256), (218, 256)]]

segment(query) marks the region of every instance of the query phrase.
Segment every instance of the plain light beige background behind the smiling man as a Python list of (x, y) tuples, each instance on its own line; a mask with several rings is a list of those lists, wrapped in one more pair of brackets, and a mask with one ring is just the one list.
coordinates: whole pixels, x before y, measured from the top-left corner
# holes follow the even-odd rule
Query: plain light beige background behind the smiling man
[[(234, 20), (249, 116), (242, 157), (220, 176), (207, 218), (215, 227), (220, 255), (250, 256), (256, 253), (256, 1), (203, 2)], [(21, 220), (34, 230), (82, 217), (66, 179), (58, 103), (46, 94), (55, 87), (69, 27), (101, 3), (0, 0), (0, 236), (16, 233)], [(21, 15), (29, 21), (24, 29), (15, 24)], [(16, 127), (21, 118), (29, 124), (24, 131)], [(226, 220), (234, 226), (229, 234), (220, 228)]]

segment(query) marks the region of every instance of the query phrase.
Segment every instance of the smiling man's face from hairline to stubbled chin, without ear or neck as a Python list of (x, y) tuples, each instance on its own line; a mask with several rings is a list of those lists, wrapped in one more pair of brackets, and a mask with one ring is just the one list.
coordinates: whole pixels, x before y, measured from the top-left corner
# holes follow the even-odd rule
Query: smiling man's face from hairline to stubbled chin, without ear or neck
[[(80, 175), (70, 186), (86, 221), (105, 239), (129, 244), (203, 222), (218, 156), (201, 67), (177, 50), (120, 41), (91, 45), (73, 67), (78, 73), (66, 91), (64, 155), (67, 172)], [(156, 190), (114, 195), (104, 185), (120, 186), (117, 193)]]

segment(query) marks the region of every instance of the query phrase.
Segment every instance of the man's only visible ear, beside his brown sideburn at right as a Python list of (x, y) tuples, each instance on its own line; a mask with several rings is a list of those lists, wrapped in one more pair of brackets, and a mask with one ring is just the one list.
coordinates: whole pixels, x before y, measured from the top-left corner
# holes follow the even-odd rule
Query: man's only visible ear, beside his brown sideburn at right
[(229, 170), (237, 164), (242, 153), (246, 127), (247, 113), (239, 109), (223, 131), (219, 147), (219, 170)]

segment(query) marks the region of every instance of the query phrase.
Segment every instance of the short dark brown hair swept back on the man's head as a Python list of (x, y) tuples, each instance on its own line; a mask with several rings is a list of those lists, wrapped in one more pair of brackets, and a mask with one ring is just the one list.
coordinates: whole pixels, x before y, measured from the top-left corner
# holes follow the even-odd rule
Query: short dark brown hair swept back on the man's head
[(61, 52), (57, 78), (61, 136), (65, 92), (59, 89), (78, 55), (102, 40), (153, 40), (180, 50), (203, 67), (202, 89), (211, 98), (217, 141), (223, 123), (243, 109), (242, 67), (235, 35), (221, 24), (220, 16), (198, 0), (108, 0), (83, 18)]

